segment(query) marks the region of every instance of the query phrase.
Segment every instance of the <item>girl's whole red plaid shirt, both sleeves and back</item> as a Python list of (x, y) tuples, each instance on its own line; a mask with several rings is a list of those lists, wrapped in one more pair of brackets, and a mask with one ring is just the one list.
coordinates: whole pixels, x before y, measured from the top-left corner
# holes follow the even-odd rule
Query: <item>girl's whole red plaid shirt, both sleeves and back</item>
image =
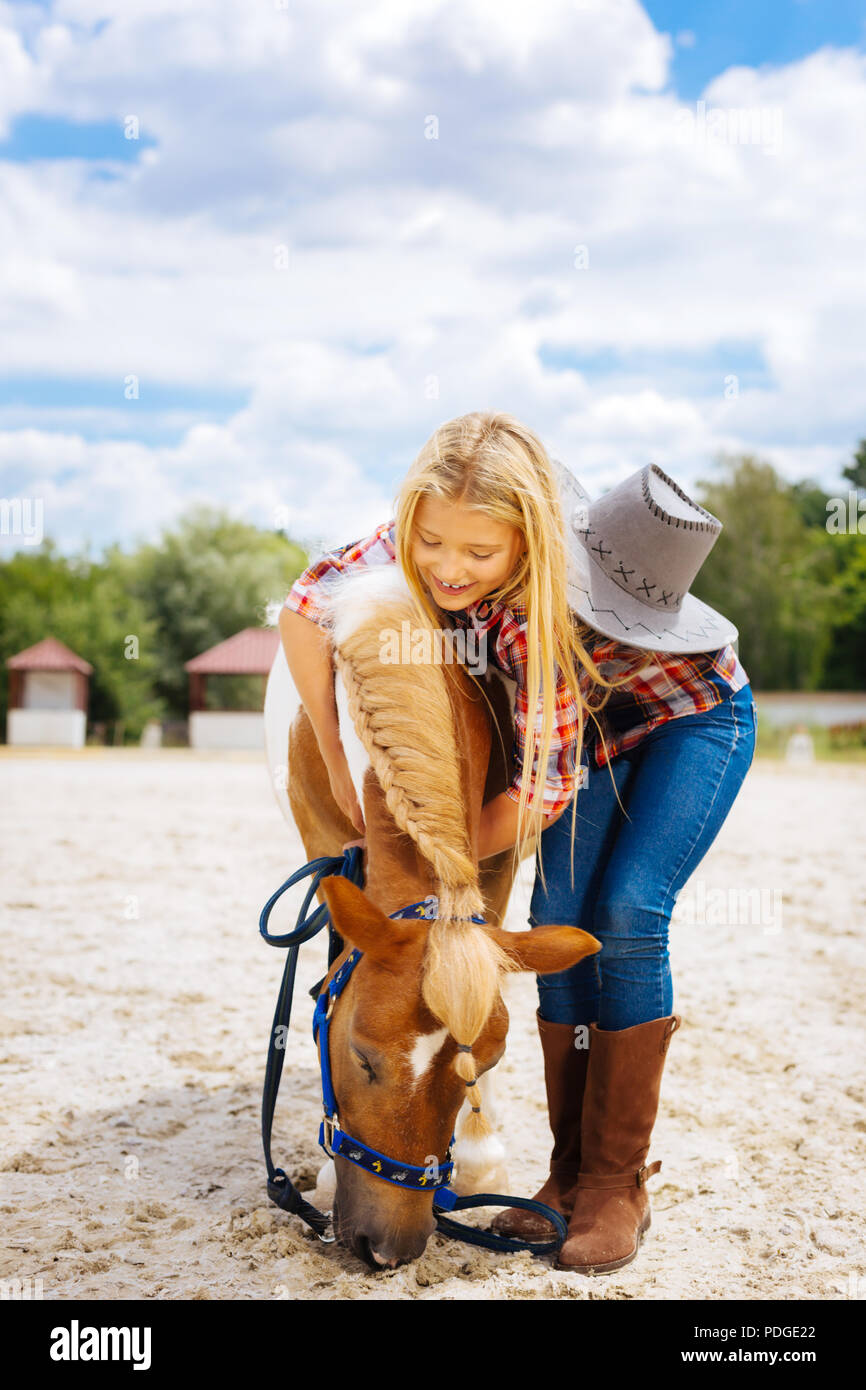
[[(324, 602), (329, 584), (346, 570), (368, 564), (396, 563), (395, 523), (384, 521), (373, 535), (352, 541), (336, 550), (329, 550), (311, 564), (292, 585), (284, 607), (303, 617), (321, 623), (325, 617)], [(506, 796), (520, 799), (523, 785), (523, 764), (528, 723), (527, 703), (527, 612), (523, 605), (507, 607), (502, 600), (488, 603), (482, 599), (452, 614), (463, 628), (487, 632), (487, 656), (516, 682), (514, 694), (514, 767), (516, 774)], [(491, 651), (492, 646), (492, 651)], [(484, 651), (484, 646), (481, 646)], [(748, 684), (748, 676), (740, 664), (733, 646), (719, 652), (699, 652), (691, 656), (673, 653), (639, 652), (621, 642), (599, 634), (592, 648), (605, 677), (623, 676), (630, 667), (630, 680), (614, 691), (599, 716), (605, 731), (609, 758), (634, 748), (652, 728), (669, 719), (696, 714), (713, 709), (735, 691)], [(585, 676), (584, 694), (591, 695), (592, 681)], [(541, 709), (537, 712), (535, 730), (541, 734)], [(585, 720), (585, 746), (598, 767), (607, 760), (601, 739), (595, 738), (595, 724)], [(569, 805), (578, 785), (575, 769), (577, 753), (577, 706), (557, 669), (556, 694), (553, 702), (553, 731), (546, 777), (542, 788), (542, 810), (550, 816)], [(532, 783), (538, 780), (538, 758), (532, 766)]]

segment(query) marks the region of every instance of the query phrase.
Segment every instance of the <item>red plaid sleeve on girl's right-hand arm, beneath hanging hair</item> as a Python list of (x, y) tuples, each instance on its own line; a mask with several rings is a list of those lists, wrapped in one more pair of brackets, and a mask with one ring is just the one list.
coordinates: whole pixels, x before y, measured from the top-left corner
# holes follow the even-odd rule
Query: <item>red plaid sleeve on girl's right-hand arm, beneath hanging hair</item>
[[(527, 653), (528, 644), (525, 613), (520, 607), (516, 607), (513, 612), (506, 609), (503, 612), (496, 638), (496, 659), (503, 670), (513, 677), (517, 685), (514, 694), (514, 766), (517, 770), (512, 778), (510, 787), (506, 787), (505, 791), (506, 796), (512, 801), (520, 801), (520, 788), (523, 787), (527, 776), (524, 764), (530, 714), (525, 685)], [(535, 717), (537, 739), (541, 737), (542, 719), (544, 709), (542, 701), (539, 699), (539, 708)], [(548, 766), (544, 770), (544, 777), (539, 778), (537, 745), (531, 778), (528, 792), (530, 798), (534, 795), (532, 788), (538, 784), (538, 781), (541, 780), (542, 783), (541, 809), (545, 816), (552, 816), (555, 812), (562, 810), (574, 796), (574, 788), (577, 785), (577, 705), (559, 667), (556, 670), (553, 731)]]

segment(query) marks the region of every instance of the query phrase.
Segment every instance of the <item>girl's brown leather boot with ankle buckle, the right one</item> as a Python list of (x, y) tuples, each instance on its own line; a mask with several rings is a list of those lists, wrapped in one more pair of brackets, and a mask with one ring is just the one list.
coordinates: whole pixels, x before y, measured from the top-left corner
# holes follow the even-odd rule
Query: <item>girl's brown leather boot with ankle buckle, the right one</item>
[(662, 1072), (678, 1013), (605, 1031), (589, 1024), (589, 1076), (581, 1126), (581, 1170), (557, 1269), (605, 1275), (637, 1255), (649, 1230), (645, 1163), (659, 1111)]

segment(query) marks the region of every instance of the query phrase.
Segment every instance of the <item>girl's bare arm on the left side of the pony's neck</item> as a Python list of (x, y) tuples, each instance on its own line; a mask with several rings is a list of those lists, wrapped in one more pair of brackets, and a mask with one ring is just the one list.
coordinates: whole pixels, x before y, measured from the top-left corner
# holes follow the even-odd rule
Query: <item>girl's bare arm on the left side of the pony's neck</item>
[(288, 607), (281, 609), (278, 624), (292, 680), (310, 717), (321, 756), (328, 769), (334, 799), (363, 835), (364, 813), (339, 737), (331, 638), (311, 619), (302, 617), (300, 613), (293, 613)]

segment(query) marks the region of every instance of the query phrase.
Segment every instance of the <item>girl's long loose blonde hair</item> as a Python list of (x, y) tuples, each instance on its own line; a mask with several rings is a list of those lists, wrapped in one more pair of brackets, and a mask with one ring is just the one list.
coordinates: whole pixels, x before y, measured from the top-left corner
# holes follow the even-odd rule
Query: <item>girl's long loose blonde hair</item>
[[(527, 623), (527, 731), (524, 771), (517, 802), (514, 869), (542, 830), (544, 769), (553, 739), (556, 670), (574, 699), (577, 739), (574, 771), (580, 767), (587, 716), (596, 723), (602, 702), (589, 703), (581, 687), (585, 671), (594, 687), (607, 692), (617, 682), (605, 680), (585, 645), (594, 630), (571, 613), (566, 591), (566, 539), (559, 489), (548, 453), (531, 430), (514, 416), (473, 411), (449, 420), (427, 441), (411, 464), (395, 499), (398, 562), (407, 578), (418, 616), (441, 626), (445, 610), (430, 596), (413, 556), (414, 516), (420, 500), (434, 496), (460, 503), (493, 521), (516, 527), (525, 550), (516, 569), (487, 599), (502, 599), (518, 621)], [(541, 728), (537, 728), (541, 710)], [(599, 728), (599, 734), (603, 734)], [(532, 767), (539, 769), (535, 784)], [(531, 795), (530, 795), (531, 790)], [(577, 795), (571, 802), (571, 876)], [(541, 881), (546, 891), (544, 863)]]

